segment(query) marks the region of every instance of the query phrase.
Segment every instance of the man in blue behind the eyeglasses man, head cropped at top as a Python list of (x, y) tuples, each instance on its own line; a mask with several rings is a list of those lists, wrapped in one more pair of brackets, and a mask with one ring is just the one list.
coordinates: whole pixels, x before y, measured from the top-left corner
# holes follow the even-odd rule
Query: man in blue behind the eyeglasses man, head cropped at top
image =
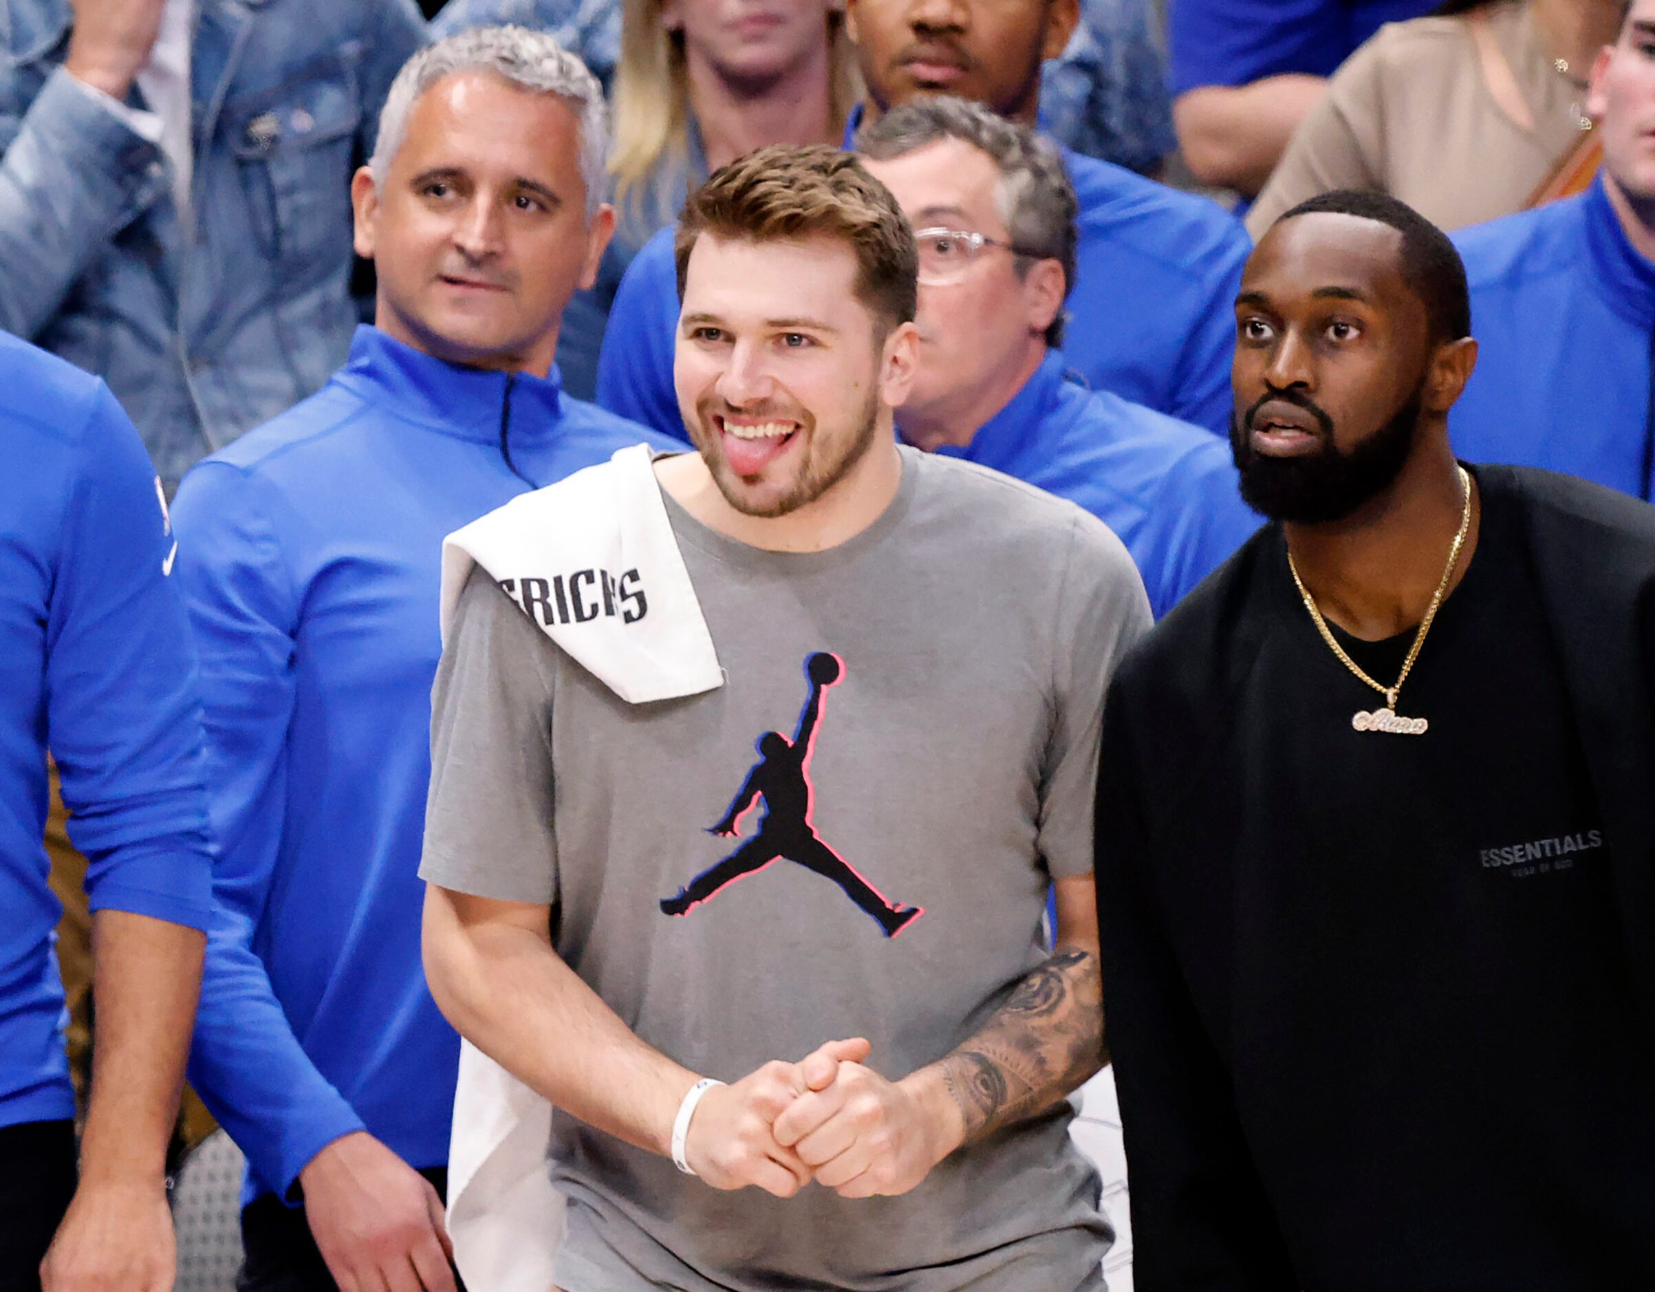
[[(1034, 124), (1041, 55), (1061, 50), (1076, 0), (851, 0), (867, 98), (856, 131), (920, 94), (957, 94)], [(1251, 250), (1246, 230), (1205, 197), (1063, 151), (1079, 200), (1064, 354), (1094, 389), (1215, 433), (1228, 425), (1231, 304)], [(1132, 324), (1122, 321), (1130, 318)], [(679, 294), (672, 230), (637, 253), (609, 314), (597, 402), (684, 435), (672, 392)]]

